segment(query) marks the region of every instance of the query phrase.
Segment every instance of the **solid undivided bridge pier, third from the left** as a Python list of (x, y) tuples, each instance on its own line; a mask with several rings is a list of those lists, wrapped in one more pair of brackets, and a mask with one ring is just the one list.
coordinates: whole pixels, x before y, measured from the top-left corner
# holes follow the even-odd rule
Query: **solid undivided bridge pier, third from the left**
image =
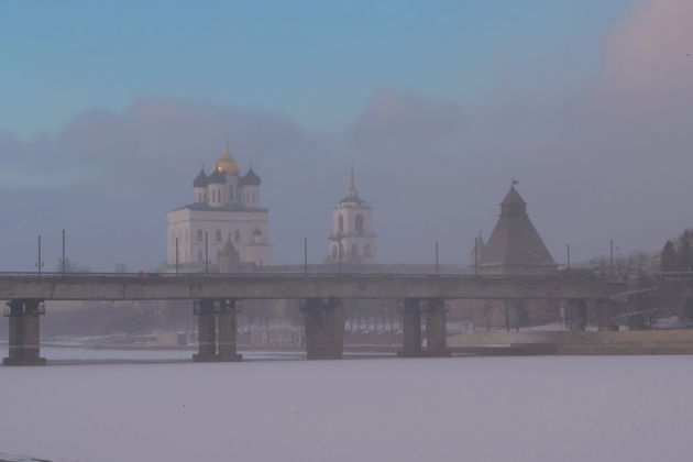
[(344, 349), (344, 305), (331, 298), (308, 298), (302, 308), (309, 360), (341, 360)]

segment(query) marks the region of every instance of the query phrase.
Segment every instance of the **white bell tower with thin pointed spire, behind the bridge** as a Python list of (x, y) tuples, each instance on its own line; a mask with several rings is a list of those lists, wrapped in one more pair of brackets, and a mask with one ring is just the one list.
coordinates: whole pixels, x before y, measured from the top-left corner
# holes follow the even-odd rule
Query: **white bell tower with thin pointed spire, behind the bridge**
[(332, 233), (328, 241), (328, 263), (338, 263), (340, 260), (343, 263), (376, 262), (373, 209), (359, 197), (359, 190), (354, 187), (353, 165), (346, 197), (332, 209)]

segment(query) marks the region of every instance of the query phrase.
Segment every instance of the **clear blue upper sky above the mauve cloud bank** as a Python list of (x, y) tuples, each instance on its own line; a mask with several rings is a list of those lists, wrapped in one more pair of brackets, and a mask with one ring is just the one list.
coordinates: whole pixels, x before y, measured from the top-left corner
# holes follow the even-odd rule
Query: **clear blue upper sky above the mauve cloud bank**
[(53, 132), (140, 97), (260, 107), (318, 130), (348, 125), (382, 88), (469, 105), (518, 89), (541, 98), (585, 85), (627, 6), (7, 1), (0, 129)]

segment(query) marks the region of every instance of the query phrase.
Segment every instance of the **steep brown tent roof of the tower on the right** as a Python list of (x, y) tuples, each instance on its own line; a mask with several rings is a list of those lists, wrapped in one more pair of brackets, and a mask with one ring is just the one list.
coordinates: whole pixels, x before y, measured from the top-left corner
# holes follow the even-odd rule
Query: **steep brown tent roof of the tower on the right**
[(510, 211), (503, 207), (525, 204), (515, 187), (512, 187), (501, 205), (501, 218), (482, 251), (479, 260), (481, 265), (556, 266), (524, 207)]

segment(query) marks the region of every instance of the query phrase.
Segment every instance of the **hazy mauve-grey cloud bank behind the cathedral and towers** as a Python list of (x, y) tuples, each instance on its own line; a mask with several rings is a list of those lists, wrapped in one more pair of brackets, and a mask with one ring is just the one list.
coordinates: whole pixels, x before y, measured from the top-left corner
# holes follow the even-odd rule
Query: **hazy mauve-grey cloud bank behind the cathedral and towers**
[(519, 81), (551, 76), (570, 57), (519, 70), (517, 85), (508, 76), (497, 95), (474, 101), (393, 84), (342, 130), (262, 107), (146, 95), (34, 136), (0, 130), (0, 268), (32, 270), (37, 233), (54, 267), (61, 229), (70, 260), (95, 271), (157, 266), (166, 211), (193, 202), (193, 178), (226, 141), (242, 172), (252, 162), (262, 177), (274, 263), (300, 262), (304, 238), (312, 262), (326, 256), (352, 161), (375, 209), (382, 262), (431, 262), (438, 239), (442, 263), (466, 264), (510, 178), (558, 262), (565, 243), (575, 261), (606, 253), (609, 239), (623, 253), (658, 251), (691, 223), (692, 16), (686, 0), (634, 2), (601, 44), (597, 72), (564, 91)]

